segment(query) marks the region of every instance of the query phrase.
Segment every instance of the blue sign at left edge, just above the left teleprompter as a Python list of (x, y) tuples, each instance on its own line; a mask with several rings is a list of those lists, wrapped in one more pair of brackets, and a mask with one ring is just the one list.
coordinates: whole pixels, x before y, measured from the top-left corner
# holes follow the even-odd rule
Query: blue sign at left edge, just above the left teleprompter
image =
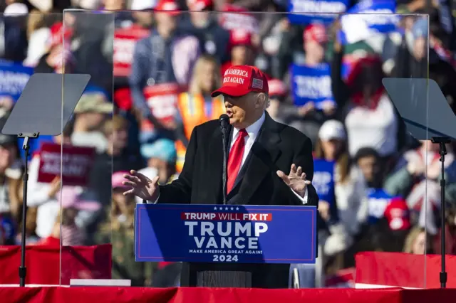
[(9, 96), (17, 101), (28, 79), (33, 75), (33, 68), (6, 61), (0, 62), (0, 96)]

